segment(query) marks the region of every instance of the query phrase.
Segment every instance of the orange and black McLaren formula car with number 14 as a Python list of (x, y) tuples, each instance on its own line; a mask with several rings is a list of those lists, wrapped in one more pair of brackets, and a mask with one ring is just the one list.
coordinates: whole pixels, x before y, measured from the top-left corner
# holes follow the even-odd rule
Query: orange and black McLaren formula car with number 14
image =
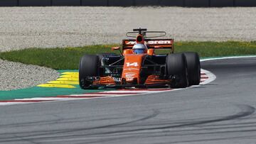
[[(156, 36), (147, 36), (157, 33)], [(136, 35), (134, 35), (136, 34)], [(200, 83), (201, 65), (196, 52), (174, 53), (174, 39), (149, 39), (165, 36), (164, 31), (134, 29), (122, 40), (120, 55), (84, 55), (80, 59), (79, 83), (82, 89), (99, 87), (174, 87)], [(157, 55), (155, 50), (167, 49)]]

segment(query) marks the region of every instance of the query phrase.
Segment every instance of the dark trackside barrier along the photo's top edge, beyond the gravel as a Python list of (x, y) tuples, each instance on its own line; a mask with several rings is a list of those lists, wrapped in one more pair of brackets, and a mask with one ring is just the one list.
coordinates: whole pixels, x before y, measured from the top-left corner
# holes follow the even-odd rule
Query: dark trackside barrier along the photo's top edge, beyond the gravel
[(256, 6), (256, 0), (0, 0), (0, 6)]

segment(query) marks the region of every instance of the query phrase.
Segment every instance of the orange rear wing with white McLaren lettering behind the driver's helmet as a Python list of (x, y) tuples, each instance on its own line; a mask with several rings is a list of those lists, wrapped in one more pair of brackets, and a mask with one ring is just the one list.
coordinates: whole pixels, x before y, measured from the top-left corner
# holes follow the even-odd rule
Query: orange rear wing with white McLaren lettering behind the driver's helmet
[[(174, 39), (145, 39), (146, 46), (153, 49), (170, 49), (174, 52)], [(122, 40), (122, 50), (132, 49), (135, 39)]]

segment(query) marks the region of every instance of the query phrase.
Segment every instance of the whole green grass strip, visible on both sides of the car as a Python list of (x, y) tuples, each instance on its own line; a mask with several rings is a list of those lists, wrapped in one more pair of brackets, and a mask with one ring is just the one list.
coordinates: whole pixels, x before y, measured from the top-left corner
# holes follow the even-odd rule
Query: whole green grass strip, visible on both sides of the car
[[(76, 70), (80, 57), (85, 54), (115, 52), (110, 48), (117, 45), (90, 45), (78, 48), (28, 48), (1, 52), (0, 58), (25, 64), (51, 67), (55, 70)], [(175, 52), (193, 51), (201, 57), (256, 55), (256, 42), (176, 42)]]

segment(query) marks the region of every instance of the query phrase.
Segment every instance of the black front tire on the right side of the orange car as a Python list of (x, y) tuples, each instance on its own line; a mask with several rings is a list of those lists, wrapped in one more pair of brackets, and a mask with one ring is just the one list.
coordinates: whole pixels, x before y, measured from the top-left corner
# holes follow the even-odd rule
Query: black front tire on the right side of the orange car
[(176, 79), (174, 79), (174, 82), (171, 82), (171, 87), (188, 87), (186, 57), (183, 53), (167, 55), (166, 71), (169, 77), (176, 77)]

